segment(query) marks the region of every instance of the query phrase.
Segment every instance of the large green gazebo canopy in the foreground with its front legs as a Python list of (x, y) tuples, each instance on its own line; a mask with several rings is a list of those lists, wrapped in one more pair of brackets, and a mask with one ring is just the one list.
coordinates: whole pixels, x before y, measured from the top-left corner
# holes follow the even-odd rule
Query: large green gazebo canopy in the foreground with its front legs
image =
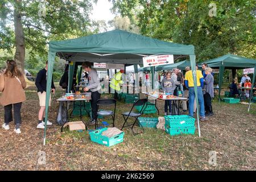
[[(165, 54), (174, 55), (174, 59), (189, 56), (192, 70), (195, 71), (196, 56), (194, 46), (165, 42), (122, 30), (108, 31), (77, 39), (49, 42), (46, 121), (48, 118), (49, 96), (51, 94), (51, 79), (55, 56), (59, 56), (70, 63), (90, 61), (94, 63), (138, 65), (143, 64), (143, 57)], [(195, 85), (197, 85), (195, 79), (196, 72), (194, 72), (193, 78)], [(196, 86), (195, 92), (197, 93)], [(198, 105), (197, 94), (196, 102)], [(197, 121), (199, 126), (199, 112), (197, 112)], [(44, 131), (44, 144), (45, 140), (46, 127)]]

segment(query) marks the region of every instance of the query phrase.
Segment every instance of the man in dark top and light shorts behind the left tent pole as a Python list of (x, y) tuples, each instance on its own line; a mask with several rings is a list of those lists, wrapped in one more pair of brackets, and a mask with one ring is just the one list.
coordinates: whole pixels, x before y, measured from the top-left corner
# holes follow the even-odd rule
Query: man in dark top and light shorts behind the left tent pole
[[(46, 117), (46, 83), (47, 83), (47, 71), (48, 71), (48, 61), (46, 61), (46, 67), (41, 69), (36, 76), (35, 85), (38, 88), (38, 97), (40, 102), (40, 110), (38, 113), (38, 129), (44, 129), (44, 122)], [(55, 93), (55, 86), (52, 80), (51, 92)], [(51, 106), (51, 95), (49, 98), (49, 106)], [(51, 122), (47, 121), (47, 125), (52, 125)]]

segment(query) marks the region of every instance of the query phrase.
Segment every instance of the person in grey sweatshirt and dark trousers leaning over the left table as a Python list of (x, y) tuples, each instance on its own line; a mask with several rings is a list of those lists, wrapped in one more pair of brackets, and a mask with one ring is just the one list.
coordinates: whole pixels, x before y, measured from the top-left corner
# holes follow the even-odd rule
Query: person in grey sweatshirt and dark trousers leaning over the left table
[(96, 122), (96, 115), (97, 115), (97, 105), (96, 102), (101, 98), (100, 94), (100, 79), (98, 78), (97, 71), (91, 68), (91, 63), (84, 62), (82, 63), (82, 69), (88, 72), (89, 77), (89, 84), (84, 88), (84, 92), (88, 92), (89, 90), (92, 92), (92, 119), (90, 120), (90, 125), (94, 125)]

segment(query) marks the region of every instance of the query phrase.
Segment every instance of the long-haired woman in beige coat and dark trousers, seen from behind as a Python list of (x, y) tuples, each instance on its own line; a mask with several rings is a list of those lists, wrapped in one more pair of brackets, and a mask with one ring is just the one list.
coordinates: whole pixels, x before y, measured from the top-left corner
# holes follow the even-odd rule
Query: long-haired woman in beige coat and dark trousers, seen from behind
[(7, 68), (0, 75), (2, 81), (5, 82), (0, 104), (5, 107), (5, 123), (2, 127), (5, 130), (10, 130), (9, 122), (13, 121), (12, 108), (14, 107), (15, 133), (20, 134), (20, 108), (22, 102), (26, 100), (24, 88), (26, 81), (22, 72), (19, 71), (14, 60), (7, 60)]

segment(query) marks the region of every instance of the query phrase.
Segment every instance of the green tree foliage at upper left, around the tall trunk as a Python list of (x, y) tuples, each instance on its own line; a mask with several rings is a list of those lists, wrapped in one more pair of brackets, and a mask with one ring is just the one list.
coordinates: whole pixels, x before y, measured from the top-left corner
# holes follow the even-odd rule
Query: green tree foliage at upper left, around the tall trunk
[[(25, 61), (28, 69), (40, 63), (39, 57), (44, 57), (46, 60), (47, 44), (50, 40), (77, 38), (92, 34), (89, 30), (92, 2), (97, 1), (21, 1), (17, 11), (22, 16), (26, 50), (29, 50)], [(0, 49), (7, 50), (9, 53), (12, 53), (15, 48), (14, 9), (16, 6), (18, 7), (18, 3), (13, 0), (0, 1)]]

